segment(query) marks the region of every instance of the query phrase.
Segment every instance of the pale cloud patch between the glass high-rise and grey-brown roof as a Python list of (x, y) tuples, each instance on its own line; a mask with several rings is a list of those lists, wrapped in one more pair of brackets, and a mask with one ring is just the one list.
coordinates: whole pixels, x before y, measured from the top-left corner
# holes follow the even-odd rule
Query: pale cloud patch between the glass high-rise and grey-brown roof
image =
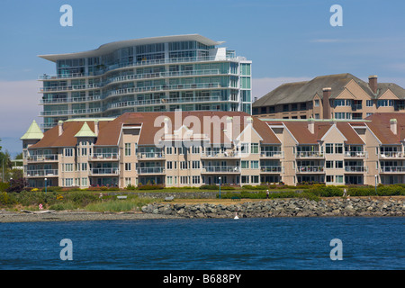
[(265, 78), (253, 78), (252, 79), (252, 94), (253, 100), (255, 97), (259, 99), (260, 97), (266, 95), (270, 91), (277, 88), (279, 85), (291, 82), (301, 82), (311, 80), (311, 77), (265, 77)]

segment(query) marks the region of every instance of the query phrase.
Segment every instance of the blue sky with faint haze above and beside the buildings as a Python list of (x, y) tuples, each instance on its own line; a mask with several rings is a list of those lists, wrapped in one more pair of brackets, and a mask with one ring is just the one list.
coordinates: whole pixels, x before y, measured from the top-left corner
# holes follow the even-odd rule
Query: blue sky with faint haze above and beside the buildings
[[(70, 4), (73, 26), (59, 8)], [(343, 8), (332, 27), (331, 5)], [(38, 117), (39, 75), (55, 74), (41, 54), (96, 49), (114, 40), (198, 33), (253, 61), (253, 94), (284, 82), (351, 73), (405, 87), (405, 3), (376, 0), (2, 0), (0, 146), (13, 155)]]

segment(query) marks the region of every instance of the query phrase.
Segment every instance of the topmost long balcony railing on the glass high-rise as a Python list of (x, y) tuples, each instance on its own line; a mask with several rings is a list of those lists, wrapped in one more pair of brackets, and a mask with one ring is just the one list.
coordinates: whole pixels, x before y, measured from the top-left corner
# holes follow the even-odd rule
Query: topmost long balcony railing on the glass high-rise
[(57, 80), (57, 79), (67, 79), (67, 78), (76, 78), (76, 77), (85, 77), (85, 76), (100, 76), (108, 71), (119, 68), (128, 68), (128, 67), (141, 67), (141, 66), (150, 66), (150, 65), (162, 65), (162, 64), (171, 64), (171, 63), (193, 63), (193, 62), (204, 62), (204, 61), (238, 61), (246, 60), (244, 57), (218, 57), (218, 56), (205, 56), (205, 57), (186, 57), (186, 58), (163, 58), (163, 59), (152, 59), (138, 61), (136, 63), (125, 63), (125, 64), (114, 64), (111, 66), (105, 67), (103, 70), (92, 72), (92, 73), (72, 73), (66, 75), (58, 76), (49, 76), (49, 75), (40, 75), (40, 80)]

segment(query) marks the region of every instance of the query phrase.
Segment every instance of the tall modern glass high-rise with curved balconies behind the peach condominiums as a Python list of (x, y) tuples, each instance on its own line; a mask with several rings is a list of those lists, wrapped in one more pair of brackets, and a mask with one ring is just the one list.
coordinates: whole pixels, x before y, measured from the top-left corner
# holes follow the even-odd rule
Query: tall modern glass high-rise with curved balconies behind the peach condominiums
[(40, 55), (56, 64), (42, 75), (40, 104), (49, 130), (71, 118), (124, 112), (251, 113), (251, 65), (223, 42), (198, 34), (116, 41), (85, 52)]

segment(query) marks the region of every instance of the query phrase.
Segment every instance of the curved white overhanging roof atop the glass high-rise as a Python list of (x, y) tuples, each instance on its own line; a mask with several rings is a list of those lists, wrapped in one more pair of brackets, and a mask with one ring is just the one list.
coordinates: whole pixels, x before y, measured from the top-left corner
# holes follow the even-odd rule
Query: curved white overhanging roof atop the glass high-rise
[(224, 42), (224, 41), (214, 41), (214, 40), (208, 39), (206, 37), (203, 37), (199, 34), (161, 36), (161, 37), (150, 37), (150, 38), (141, 38), (141, 39), (133, 39), (133, 40), (115, 41), (115, 42), (103, 44), (97, 49), (88, 50), (88, 51), (84, 51), (84, 52), (39, 55), (38, 57), (47, 59), (49, 61), (56, 62), (59, 59), (87, 58), (87, 57), (102, 56), (102, 55), (111, 53), (112, 51), (114, 51), (116, 49), (121, 49), (121, 48), (125, 48), (125, 47), (130, 47), (130, 46), (166, 43), (166, 42), (175, 42), (175, 41), (191, 41), (191, 40), (201, 42), (202, 44), (205, 44), (208, 46), (220, 45)]

